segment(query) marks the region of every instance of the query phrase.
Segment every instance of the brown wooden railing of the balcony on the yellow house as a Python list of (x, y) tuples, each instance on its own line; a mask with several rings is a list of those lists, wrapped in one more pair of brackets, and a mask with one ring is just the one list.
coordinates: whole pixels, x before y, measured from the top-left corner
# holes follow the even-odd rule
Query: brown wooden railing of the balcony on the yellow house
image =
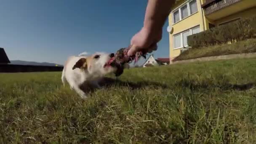
[(202, 7), (205, 9), (205, 15), (218, 11), (221, 8), (225, 8), (241, 0), (210, 0), (210, 1), (211, 1), (210, 3), (207, 3), (206, 1), (206, 3), (202, 5)]

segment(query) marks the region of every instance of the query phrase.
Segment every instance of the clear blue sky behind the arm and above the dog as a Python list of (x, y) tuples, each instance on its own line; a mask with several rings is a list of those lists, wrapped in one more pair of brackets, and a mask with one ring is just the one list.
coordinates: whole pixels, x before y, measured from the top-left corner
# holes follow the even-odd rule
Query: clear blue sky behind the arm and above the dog
[[(10, 60), (64, 64), (84, 51), (127, 47), (147, 0), (0, 0), (0, 47)], [(169, 56), (166, 27), (155, 58)]]

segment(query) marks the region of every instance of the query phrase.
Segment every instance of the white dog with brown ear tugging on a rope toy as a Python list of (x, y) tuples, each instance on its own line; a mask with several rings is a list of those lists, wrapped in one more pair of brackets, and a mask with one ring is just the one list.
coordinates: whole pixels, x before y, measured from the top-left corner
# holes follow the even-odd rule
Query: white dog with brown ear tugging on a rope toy
[(82, 98), (87, 98), (83, 88), (88, 88), (89, 85), (99, 88), (101, 78), (117, 70), (108, 63), (113, 56), (114, 53), (94, 53), (90, 56), (69, 57), (61, 75), (63, 85), (68, 82), (72, 90)]

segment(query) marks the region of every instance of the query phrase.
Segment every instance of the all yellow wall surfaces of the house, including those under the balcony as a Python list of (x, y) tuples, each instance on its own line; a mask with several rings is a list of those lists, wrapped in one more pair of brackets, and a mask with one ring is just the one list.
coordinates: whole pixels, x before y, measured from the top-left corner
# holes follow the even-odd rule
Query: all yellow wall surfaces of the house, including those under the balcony
[(205, 16), (205, 11), (201, 8), (205, 0), (197, 0), (197, 12), (173, 24), (173, 13), (189, 1), (191, 0), (180, 0), (179, 3), (176, 3), (168, 17), (169, 26), (173, 28), (172, 33), (169, 33), (170, 61), (181, 53), (181, 48), (174, 48), (174, 36), (176, 34), (196, 26), (200, 26), (200, 32), (202, 32), (210, 29), (209, 24), (213, 24), (214, 27), (217, 27), (223, 22), (256, 15), (256, 0), (242, 0), (239, 3), (232, 4), (231, 6), (227, 6), (227, 8), (222, 8), (214, 12), (212, 15), (216, 15), (215, 18), (222, 18), (212, 20), (208, 16)]

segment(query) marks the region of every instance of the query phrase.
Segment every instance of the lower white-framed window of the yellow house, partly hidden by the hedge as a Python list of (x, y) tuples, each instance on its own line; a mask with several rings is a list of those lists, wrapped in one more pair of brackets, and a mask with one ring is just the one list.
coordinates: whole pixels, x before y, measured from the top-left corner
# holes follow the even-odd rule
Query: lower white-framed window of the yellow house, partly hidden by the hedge
[(187, 29), (173, 36), (174, 49), (187, 47), (187, 36), (200, 32), (200, 26)]

